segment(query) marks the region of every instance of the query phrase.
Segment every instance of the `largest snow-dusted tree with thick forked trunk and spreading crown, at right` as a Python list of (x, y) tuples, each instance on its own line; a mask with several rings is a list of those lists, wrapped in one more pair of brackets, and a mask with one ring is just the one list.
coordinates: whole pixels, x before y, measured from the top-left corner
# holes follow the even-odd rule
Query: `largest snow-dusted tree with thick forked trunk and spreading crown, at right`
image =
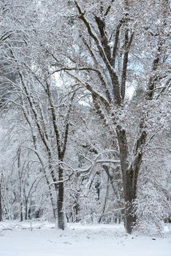
[[(167, 1), (148, 1), (147, 5), (144, 1), (128, 0), (69, 1), (69, 7), (64, 4), (61, 12), (65, 15), (60, 17), (63, 23), (70, 24), (74, 37), (69, 39), (68, 28), (64, 27), (67, 44), (63, 45), (63, 60), (58, 63), (61, 69), (56, 72), (64, 70), (90, 91), (99, 117), (113, 129), (110, 140), (116, 141), (121, 161), (128, 233), (132, 233), (136, 222), (132, 203), (137, 196), (138, 174), (149, 139), (148, 108), (159, 101), (170, 83), (168, 12)], [(141, 81), (142, 76), (145, 79)], [(126, 95), (132, 81), (146, 90), (136, 108), (138, 115), (134, 113), (133, 118)]]

